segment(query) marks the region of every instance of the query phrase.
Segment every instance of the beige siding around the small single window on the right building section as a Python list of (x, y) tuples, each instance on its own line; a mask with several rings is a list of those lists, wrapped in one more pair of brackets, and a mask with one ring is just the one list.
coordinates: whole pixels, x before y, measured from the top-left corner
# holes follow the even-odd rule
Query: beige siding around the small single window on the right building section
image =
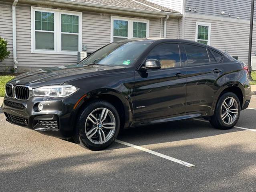
[[(185, 18), (185, 39), (195, 41), (196, 22), (211, 23), (210, 45), (222, 51), (228, 50), (231, 56), (238, 56), (238, 60), (248, 63), (248, 45), (250, 25), (220, 20)], [(254, 33), (253, 40), (256, 34)], [(256, 50), (253, 41), (252, 53)]]

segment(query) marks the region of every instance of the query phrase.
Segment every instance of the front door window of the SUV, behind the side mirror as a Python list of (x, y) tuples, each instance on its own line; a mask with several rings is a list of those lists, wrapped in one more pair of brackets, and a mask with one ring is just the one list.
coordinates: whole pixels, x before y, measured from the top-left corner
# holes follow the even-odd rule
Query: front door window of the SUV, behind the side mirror
[(148, 59), (157, 59), (161, 69), (180, 67), (179, 46), (177, 43), (166, 43), (155, 46), (148, 54)]

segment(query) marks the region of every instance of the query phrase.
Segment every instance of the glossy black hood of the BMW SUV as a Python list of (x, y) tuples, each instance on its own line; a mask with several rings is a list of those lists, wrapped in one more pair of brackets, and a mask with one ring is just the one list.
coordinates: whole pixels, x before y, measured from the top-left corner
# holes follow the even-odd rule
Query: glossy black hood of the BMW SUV
[(105, 74), (124, 70), (121, 66), (100, 65), (65, 65), (26, 72), (12, 79), (13, 85), (28, 85), (31, 87), (63, 84), (65, 82), (85, 78), (92, 75)]

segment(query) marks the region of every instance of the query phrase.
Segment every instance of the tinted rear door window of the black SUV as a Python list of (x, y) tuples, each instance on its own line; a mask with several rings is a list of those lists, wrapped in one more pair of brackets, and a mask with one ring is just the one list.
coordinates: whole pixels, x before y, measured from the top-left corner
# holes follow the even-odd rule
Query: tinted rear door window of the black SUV
[(206, 48), (189, 44), (184, 44), (184, 47), (187, 53), (187, 64), (189, 66), (210, 64)]

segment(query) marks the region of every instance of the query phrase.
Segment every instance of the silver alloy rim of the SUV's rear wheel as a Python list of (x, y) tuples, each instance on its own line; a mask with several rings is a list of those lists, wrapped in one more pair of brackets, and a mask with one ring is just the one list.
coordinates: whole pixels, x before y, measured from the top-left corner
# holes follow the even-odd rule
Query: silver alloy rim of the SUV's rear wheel
[(221, 106), (221, 118), (225, 124), (233, 124), (238, 117), (238, 102), (234, 97), (226, 98)]

